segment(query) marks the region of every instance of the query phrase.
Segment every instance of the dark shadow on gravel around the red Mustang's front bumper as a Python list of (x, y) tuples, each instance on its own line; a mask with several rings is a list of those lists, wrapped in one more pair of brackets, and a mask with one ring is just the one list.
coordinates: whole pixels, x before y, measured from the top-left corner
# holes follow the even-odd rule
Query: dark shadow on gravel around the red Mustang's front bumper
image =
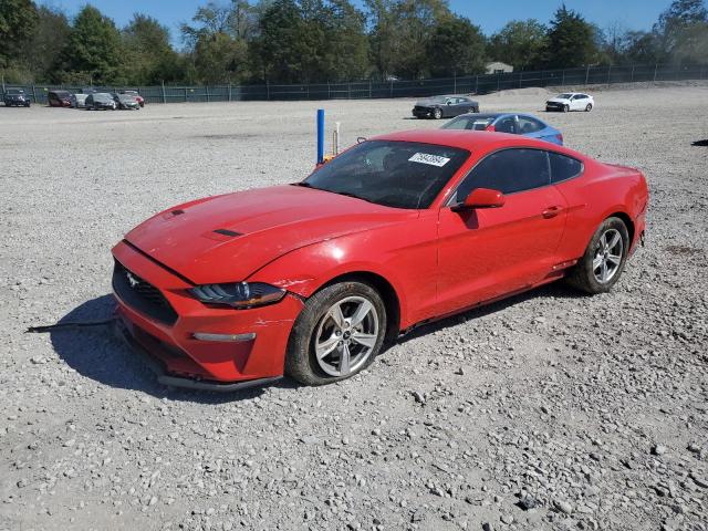
[[(108, 320), (114, 309), (113, 295), (98, 296), (73, 309), (59, 324)], [(142, 356), (116, 337), (111, 326), (58, 329), (50, 332), (50, 339), (54, 351), (70, 367), (82, 376), (115, 388), (135, 389), (157, 398), (201, 404), (250, 399), (264, 391), (264, 387), (253, 387), (240, 392), (214, 393), (160, 385)], [(296, 384), (282, 379), (271, 386), (292, 388)]]

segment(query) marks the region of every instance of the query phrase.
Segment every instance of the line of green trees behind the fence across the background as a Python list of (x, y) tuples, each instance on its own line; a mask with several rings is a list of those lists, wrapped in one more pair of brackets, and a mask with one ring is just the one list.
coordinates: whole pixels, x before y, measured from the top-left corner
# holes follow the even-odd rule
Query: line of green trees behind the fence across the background
[(512, 20), (485, 35), (447, 0), (210, 1), (180, 25), (152, 17), (124, 28), (86, 4), (72, 19), (32, 0), (0, 0), (7, 82), (154, 85), (316, 83), (516, 70), (708, 61), (705, 0), (674, 0), (650, 31), (598, 28), (561, 4), (548, 23)]

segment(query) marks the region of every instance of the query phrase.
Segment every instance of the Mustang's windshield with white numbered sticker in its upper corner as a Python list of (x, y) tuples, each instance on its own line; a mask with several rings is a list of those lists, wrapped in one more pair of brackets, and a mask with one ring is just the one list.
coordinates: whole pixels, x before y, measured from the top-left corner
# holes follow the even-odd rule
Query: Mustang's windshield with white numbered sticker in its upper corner
[(413, 142), (369, 140), (315, 170), (300, 186), (394, 208), (428, 208), (469, 152)]

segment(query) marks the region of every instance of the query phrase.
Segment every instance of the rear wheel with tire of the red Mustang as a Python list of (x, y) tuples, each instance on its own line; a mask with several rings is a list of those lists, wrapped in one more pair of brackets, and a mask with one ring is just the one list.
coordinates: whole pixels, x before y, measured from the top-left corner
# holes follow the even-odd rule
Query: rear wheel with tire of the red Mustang
[(629, 233), (624, 221), (620, 218), (605, 219), (591, 238), (585, 253), (571, 271), (568, 281), (586, 293), (608, 292), (622, 275), (628, 250)]

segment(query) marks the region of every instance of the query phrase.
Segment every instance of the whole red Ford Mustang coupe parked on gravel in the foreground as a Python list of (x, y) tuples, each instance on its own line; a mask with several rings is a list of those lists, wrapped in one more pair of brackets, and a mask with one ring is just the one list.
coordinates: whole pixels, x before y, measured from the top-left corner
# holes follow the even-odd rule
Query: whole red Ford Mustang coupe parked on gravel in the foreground
[(117, 322), (165, 384), (326, 384), (420, 323), (564, 277), (608, 291), (647, 204), (636, 169), (548, 143), (385, 135), (139, 225), (113, 249)]

